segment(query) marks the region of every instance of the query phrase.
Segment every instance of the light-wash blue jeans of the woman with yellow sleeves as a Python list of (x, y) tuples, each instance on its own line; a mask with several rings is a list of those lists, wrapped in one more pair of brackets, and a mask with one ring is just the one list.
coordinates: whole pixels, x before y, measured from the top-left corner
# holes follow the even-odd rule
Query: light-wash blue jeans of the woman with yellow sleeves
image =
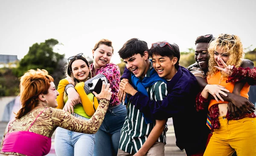
[[(89, 120), (75, 113), (77, 118)], [(55, 152), (57, 156), (92, 156), (95, 134), (84, 134), (58, 127), (55, 133)]]

